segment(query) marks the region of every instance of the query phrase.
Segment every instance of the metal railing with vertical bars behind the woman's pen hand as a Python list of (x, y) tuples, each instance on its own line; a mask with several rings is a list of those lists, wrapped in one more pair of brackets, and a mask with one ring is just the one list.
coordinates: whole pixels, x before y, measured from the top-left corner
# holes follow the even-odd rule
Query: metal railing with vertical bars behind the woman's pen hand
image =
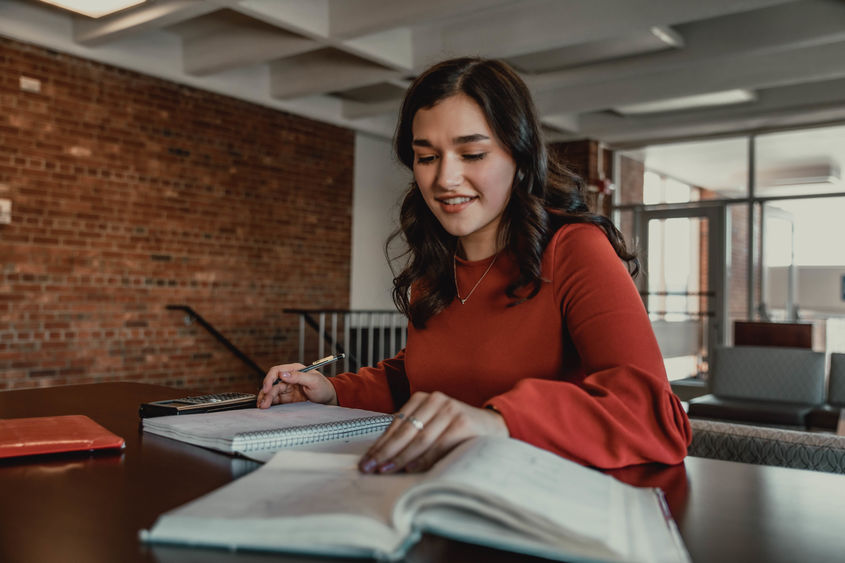
[[(395, 310), (284, 309), (284, 312), (299, 315), (301, 363), (314, 359), (306, 358), (308, 353), (317, 358), (346, 354), (343, 362), (335, 364), (329, 370), (332, 373), (326, 375), (357, 371), (393, 357), (405, 347), (408, 337), (407, 320)], [(312, 330), (306, 331), (306, 325)]]

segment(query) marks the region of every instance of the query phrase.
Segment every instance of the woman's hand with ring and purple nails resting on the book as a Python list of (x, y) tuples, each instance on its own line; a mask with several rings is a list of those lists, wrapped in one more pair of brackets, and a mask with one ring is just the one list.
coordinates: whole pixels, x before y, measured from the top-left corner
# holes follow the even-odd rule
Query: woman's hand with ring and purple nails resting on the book
[(502, 415), (440, 392), (414, 393), (358, 464), (364, 473), (425, 471), (475, 436), (508, 436)]

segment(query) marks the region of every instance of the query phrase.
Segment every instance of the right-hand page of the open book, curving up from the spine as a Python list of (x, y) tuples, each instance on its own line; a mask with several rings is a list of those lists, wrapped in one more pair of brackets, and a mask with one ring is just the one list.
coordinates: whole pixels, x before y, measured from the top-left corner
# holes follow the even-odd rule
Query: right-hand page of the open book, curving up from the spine
[(451, 492), (454, 508), (487, 512), (535, 538), (563, 535), (619, 554), (628, 549), (627, 485), (612, 477), (510, 438), (471, 440), (444, 462), (406, 502), (425, 504), (426, 495)]

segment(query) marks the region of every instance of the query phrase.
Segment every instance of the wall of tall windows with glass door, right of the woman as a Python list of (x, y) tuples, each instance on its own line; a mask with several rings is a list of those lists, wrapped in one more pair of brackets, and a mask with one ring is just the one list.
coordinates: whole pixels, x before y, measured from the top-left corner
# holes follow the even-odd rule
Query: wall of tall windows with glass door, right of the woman
[[(626, 238), (646, 250), (640, 287), (670, 379), (706, 369), (706, 346), (697, 357), (676, 346), (684, 323), (696, 316), (702, 342), (713, 336), (729, 344), (734, 320), (800, 320), (813, 322), (816, 349), (845, 349), (845, 125), (751, 141), (690, 141), (617, 155), (614, 216)], [(696, 218), (706, 209), (724, 217), (723, 264), (713, 286), (712, 221)], [(714, 310), (719, 299), (723, 307)]]

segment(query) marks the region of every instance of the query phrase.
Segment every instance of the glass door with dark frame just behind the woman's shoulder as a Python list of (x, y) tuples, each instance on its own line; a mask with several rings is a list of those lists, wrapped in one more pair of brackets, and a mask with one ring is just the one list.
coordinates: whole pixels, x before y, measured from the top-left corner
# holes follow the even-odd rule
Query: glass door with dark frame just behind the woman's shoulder
[(725, 207), (635, 214), (640, 294), (672, 381), (706, 379), (713, 347), (725, 342)]

